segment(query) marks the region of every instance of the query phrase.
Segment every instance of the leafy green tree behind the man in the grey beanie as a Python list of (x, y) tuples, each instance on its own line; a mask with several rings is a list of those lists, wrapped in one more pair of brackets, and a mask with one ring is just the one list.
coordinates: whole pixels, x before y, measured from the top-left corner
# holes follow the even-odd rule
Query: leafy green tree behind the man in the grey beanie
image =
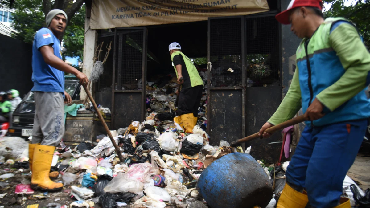
[[(10, 6), (10, 2), (0, 3)], [(79, 57), (82, 60), (85, 28), (84, 0), (15, 0), (12, 4), (13, 27), (16, 30), (13, 37), (32, 44), (36, 31), (45, 27), (46, 14), (52, 9), (61, 9), (67, 14), (67, 28), (63, 36), (63, 58), (65, 56)]]

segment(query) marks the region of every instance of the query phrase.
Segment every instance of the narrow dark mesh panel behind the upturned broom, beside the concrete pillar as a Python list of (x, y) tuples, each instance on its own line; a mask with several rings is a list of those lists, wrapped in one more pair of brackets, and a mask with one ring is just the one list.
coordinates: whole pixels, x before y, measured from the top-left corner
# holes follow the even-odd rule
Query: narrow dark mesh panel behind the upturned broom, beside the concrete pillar
[[(112, 49), (113, 49), (114, 34), (112, 34), (112, 36), (99, 38), (98, 40), (99, 48), (101, 44), (103, 44), (103, 46), (101, 47), (100, 56), (98, 58), (98, 61), (104, 60), (105, 53), (107, 53), (108, 51), (107, 46), (109, 46), (109, 43), (111, 41), (112, 41)], [(111, 90), (112, 74), (113, 74), (113, 50), (110, 51), (107, 61), (105, 61), (103, 74), (100, 76), (99, 82), (97, 84), (98, 92)]]

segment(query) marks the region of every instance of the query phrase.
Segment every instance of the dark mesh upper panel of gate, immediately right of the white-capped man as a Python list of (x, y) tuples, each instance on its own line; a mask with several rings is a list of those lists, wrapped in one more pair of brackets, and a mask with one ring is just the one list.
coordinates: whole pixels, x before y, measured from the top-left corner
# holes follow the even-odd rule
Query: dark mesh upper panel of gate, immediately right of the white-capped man
[(210, 20), (211, 86), (242, 86), (241, 18)]

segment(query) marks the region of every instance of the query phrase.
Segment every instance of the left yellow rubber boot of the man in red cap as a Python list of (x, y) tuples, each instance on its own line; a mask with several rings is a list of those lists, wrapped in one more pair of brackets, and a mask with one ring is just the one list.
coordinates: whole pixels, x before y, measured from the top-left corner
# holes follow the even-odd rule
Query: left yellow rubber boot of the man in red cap
[(287, 183), (277, 201), (276, 208), (305, 208), (308, 202), (306, 192), (301, 193), (294, 190)]

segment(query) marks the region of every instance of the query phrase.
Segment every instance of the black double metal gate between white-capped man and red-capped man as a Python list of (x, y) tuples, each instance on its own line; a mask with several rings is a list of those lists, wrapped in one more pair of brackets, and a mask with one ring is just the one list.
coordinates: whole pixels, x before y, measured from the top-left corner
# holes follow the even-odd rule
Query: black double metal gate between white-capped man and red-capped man
[[(258, 132), (281, 102), (281, 32), (275, 15), (208, 19), (212, 67), (208, 67), (207, 131), (211, 145)], [(246, 145), (252, 146), (253, 157), (273, 162), (279, 157), (281, 141), (277, 133)]]

